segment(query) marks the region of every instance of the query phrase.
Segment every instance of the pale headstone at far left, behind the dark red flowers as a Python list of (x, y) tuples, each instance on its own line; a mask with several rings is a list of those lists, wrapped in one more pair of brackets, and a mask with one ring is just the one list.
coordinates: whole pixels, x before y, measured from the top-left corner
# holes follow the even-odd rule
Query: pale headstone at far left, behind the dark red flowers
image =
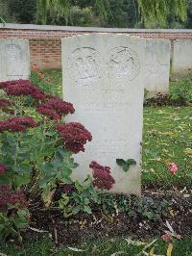
[(30, 48), (26, 39), (0, 39), (0, 81), (30, 77)]

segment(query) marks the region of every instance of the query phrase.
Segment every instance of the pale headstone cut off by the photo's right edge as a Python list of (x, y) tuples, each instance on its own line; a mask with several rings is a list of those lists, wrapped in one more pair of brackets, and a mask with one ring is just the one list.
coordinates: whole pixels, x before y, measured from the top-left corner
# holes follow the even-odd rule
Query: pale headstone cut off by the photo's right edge
[(174, 41), (172, 71), (180, 73), (192, 70), (192, 39)]

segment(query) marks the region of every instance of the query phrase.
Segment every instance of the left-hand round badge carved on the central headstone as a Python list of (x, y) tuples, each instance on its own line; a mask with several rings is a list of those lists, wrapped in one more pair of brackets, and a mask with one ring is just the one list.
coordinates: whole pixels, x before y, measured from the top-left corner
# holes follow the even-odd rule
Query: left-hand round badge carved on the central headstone
[(78, 85), (88, 86), (97, 82), (103, 75), (103, 60), (98, 51), (90, 47), (74, 50), (68, 59), (71, 78)]

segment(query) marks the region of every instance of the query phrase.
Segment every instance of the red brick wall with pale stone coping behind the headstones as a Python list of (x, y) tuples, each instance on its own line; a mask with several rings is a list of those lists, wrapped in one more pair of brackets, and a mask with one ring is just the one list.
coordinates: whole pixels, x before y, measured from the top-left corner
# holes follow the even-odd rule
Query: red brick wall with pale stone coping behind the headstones
[(192, 39), (192, 30), (134, 30), (0, 24), (0, 38), (26, 38), (30, 41), (31, 63), (51, 69), (61, 66), (61, 38), (87, 33), (123, 33), (142, 38)]

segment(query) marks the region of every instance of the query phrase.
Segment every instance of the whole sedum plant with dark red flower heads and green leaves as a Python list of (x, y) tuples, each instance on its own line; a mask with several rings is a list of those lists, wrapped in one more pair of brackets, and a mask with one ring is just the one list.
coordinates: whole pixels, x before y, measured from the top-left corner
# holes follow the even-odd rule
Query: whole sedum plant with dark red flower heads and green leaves
[[(73, 154), (84, 151), (92, 140), (78, 122), (64, 122), (75, 112), (73, 105), (52, 96), (28, 80), (0, 83), (5, 96), (0, 99), (0, 231), (2, 237), (21, 241), (20, 230), (28, 225), (34, 198), (38, 206), (55, 207), (64, 216), (80, 211), (91, 213), (90, 204), (99, 203), (94, 187), (109, 190), (114, 184), (109, 167), (92, 162), (93, 178), (84, 183), (71, 179)], [(60, 188), (73, 192), (61, 192)], [(70, 191), (70, 190), (69, 190)]]

